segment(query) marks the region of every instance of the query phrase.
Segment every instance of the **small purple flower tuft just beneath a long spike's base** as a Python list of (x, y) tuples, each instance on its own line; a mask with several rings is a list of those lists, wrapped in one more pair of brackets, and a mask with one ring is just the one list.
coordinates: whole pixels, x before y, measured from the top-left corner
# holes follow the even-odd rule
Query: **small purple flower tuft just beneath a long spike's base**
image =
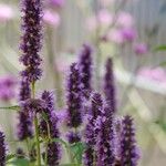
[(79, 143), (81, 141), (81, 133), (79, 132), (69, 132), (66, 134), (68, 142), (70, 144)]

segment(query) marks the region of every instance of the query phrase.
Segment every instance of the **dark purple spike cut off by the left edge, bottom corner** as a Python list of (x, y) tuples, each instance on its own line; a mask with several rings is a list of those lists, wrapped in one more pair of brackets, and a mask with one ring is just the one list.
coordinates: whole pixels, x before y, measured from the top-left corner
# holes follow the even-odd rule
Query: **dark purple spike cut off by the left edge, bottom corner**
[(6, 143), (2, 132), (0, 132), (0, 165), (6, 166)]

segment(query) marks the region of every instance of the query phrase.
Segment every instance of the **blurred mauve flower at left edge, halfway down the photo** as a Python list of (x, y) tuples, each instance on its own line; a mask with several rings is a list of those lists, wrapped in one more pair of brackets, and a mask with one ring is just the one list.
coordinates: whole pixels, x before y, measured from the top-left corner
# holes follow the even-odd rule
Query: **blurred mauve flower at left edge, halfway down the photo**
[(15, 96), (17, 79), (13, 76), (0, 77), (0, 100), (8, 102)]

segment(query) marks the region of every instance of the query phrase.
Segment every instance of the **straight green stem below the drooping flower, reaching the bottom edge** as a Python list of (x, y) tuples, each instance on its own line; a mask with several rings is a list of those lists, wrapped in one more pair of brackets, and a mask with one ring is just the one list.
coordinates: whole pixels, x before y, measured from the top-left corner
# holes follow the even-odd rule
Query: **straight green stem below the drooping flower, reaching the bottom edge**
[(34, 128), (35, 128), (35, 142), (37, 142), (37, 163), (38, 163), (38, 166), (41, 166), (39, 126), (38, 126), (37, 114), (34, 115)]

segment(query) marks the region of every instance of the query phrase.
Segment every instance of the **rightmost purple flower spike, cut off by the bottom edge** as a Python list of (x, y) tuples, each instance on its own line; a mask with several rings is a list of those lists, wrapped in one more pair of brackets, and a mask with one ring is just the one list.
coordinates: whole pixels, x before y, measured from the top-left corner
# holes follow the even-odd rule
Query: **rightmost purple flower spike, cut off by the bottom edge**
[(133, 118), (128, 115), (125, 116), (122, 125), (121, 163), (123, 166), (136, 166), (139, 155), (135, 139)]

